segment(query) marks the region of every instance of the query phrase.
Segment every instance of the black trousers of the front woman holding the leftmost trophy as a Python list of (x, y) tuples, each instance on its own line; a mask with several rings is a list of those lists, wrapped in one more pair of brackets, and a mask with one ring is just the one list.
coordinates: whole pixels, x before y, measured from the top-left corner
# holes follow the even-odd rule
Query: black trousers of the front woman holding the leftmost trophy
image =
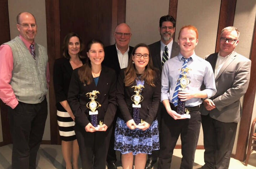
[(75, 126), (79, 153), (83, 169), (105, 169), (112, 125), (107, 131), (86, 132), (85, 128)]

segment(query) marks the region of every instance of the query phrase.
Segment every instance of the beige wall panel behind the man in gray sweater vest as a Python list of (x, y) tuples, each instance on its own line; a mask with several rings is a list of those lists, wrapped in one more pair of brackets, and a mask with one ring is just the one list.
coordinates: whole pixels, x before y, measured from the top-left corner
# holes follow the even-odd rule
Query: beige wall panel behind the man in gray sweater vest
[[(36, 18), (37, 23), (37, 35), (35, 41), (47, 48), (47, 36), (46, 36), (46, 14), (45, 14), (45, 1), (43, 0), (8, 0), (9, 10), (9, 23), (10, 23), (10, 35), (11, 39), (19, 35), (19, 31), (16, 27), (16, 16), (20, 12), (30, 12)], [(48, 101), (47, 101), (48, 102)], [(49, 110), (49, 105), (48, 105)], [(49, 111), (48, 111), (49, 112)], [(50, 140), (50, 115), (48, 113), (45, 132), (43, 134), (43, 140)]]

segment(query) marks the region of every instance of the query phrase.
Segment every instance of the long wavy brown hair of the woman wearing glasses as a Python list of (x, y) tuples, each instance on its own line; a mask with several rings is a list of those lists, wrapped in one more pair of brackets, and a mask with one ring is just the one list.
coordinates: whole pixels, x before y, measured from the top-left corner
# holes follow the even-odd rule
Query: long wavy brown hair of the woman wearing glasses
[[(151, 56), (149, 47), (144, 43), (137, 44), (133, 48), (132, 56), (134, 56), (134, 53), (135, 53), (136, 49), (138, 49), (139, 47), (146, 47), (149, 51), (149, 62), (148, 62), (148, 65), (146, 65), (145, 72), (142, 74), (140, 79), (145, 80), (145, 82), (147, 84), (149, 84), (150, 86), (155, 87), (154, 81), (155, 81), (156, 76), (157, 76), (157, 69), (155, 69), (153, 67), (152, 56)], [(128, 61), (128, 67), (124, 71), (124, 84), (125, 84), (125, 86), (131, 85), (133, 83), (133, 81), (137, 78), (135, 64), (132, 63), (133, 62), (132, 56), (130, 57), (130, 59)]]

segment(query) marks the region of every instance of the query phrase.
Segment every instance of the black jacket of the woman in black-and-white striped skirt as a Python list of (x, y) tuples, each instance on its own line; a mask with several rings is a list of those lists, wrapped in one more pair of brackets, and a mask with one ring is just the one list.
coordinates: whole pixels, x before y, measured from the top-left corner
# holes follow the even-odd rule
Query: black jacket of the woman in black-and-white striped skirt
[[(83, 64), (85, 60), (82, 59)], [(73, 68), (69, 59), (59, 58), (55, 60), (53, 68), (53, 86), (55, 91), (56, 107), (58, 111), (66, 111), (61, 101), (67, 100), (68, 88), (71, 79)]]

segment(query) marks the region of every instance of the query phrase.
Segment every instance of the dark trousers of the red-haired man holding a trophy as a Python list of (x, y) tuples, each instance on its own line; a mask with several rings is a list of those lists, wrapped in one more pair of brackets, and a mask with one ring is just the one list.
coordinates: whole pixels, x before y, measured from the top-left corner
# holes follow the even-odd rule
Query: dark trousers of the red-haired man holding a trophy
[[(171, 107), (175, 110), (174, 107)], [(158, 169), (171, 166), (171, 157), (176, 142), (181, 137), (181, 169), (192, 169), (195, 150), (201, 127), (201, 116), (198, 110), (190, 111), (190, 119), (174, 120), (167, 112), (162, 114), (162, 133)]]

